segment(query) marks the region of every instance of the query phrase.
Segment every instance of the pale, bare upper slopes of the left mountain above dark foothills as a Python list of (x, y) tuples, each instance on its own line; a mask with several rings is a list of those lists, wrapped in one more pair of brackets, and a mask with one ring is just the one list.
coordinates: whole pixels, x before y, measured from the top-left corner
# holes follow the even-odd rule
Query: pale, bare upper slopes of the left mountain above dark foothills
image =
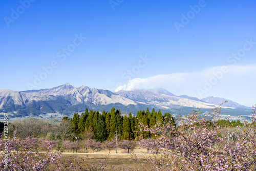
[(5, 108), (8, 103), (26, 106), (32, 101), (57, 100), (58, 96), (61, 96), (72, 105), (86, 102), (95, 105), (108, 105), (111, 103), (121, 103), (123, 105), (136, 104), (135, 101), (116, 95), (108, 90), (98, 90), (86, 86), (73, 87), (70, 84), (64, 84), (52, 89), (24, 92), (0, 90), (0, 109)]

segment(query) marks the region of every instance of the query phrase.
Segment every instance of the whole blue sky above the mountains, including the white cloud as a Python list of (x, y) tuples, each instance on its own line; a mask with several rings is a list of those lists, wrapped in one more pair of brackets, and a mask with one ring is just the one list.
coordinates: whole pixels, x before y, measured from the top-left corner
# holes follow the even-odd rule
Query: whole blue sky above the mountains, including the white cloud
[(161, 87), (251, 106), (255, 17), (252, 0), (1, 1), (0, 89)]

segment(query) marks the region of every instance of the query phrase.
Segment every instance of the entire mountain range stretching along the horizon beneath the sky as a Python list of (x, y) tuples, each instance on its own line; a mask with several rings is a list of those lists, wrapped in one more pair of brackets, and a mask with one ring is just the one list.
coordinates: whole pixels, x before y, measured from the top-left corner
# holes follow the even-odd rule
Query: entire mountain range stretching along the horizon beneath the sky
[[(0, 90), (0, 113), (8, 112), (13, 117), (38, 116), (47, 113), (72, 114), (84, 112), (86, 108), (110, 111), (112, 106), (124, 113), (137, 114), (138, 110), (161, 109), (163, 112), (179, 114), (200, 108), (208, 111), (226, 99), (206, 97), (198, 99), (187, 95), (177, 96), (165, 89), (135, 89), (111, 92), (87, 86), (73, 87), (64, 84), (51, 89), (12, 91)], [(232, 113), (248, 111), (248, 107), (228, 100), (223, 108)]]

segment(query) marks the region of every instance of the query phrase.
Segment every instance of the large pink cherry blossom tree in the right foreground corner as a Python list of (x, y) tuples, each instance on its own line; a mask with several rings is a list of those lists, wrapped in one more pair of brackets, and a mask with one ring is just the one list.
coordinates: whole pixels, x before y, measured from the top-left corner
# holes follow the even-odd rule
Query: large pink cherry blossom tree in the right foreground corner
[[(244, 121), (244, 127), (220, 136), (217, 121), (221, 118), (221, 106), (202, 116), (195, 110), (180, 118), (180, 125), (158, 123), (143, 131), (155, 134), (161, 155), (150, 157), (155, 170), (253, 170), (256, 165), (255, 109), (252, 123)], [(200, 118), (201, 117), (201, 118)], [(210, 117), (212, 126), (206, 118)], [(176, 121), (177, 122), (177, 121)], [(239, 135), (238, 131), (242, 134)], [(233, 140), (230, 138), (233, 137)]]

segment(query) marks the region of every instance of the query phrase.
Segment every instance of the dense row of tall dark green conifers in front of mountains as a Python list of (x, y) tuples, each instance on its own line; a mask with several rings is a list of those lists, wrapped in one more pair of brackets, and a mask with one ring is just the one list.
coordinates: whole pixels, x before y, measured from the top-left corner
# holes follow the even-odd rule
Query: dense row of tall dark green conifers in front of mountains
[(138, 127), (139, 122), (143, 125), (152, 127), (157, 122), (168, 122), (174, 123), (174, 118), (169, 113), (162, 115), (161, 111), (150, 112), (148, 108), (146, 112), (138, 111), (137, 116), (133, 116), (129, 113), (128, 116), (121, 116), (120, 110), (115, 110), (113, 107), (110, 112), (102, 111), (86, 111), (81, 113), (75, 113), (72, 118), (72, 124), (74, 126), (74, 132), (76, 134), (83, 134), (88, 131), (92, 131), (98, 141), (105, 141), (107, 139), (113, 139), (117, 133), (120, 139), (135, 139), (136, 137), (150, 138), (149, 132), (140, 132)]

